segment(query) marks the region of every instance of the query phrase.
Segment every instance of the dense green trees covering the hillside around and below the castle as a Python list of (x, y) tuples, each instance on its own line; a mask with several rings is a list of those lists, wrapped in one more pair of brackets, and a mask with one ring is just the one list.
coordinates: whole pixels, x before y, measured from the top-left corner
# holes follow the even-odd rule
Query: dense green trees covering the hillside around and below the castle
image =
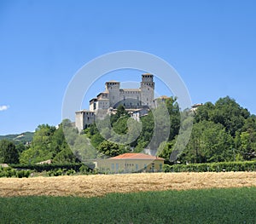
[[(166, 123), (170, 122), (169, 137), (158, 148), (158, 156), (168, 162), (177, 141), (182, 113), (193, 113), (193, 129), (189, 143), (182, 152), (177, 152), (177, 159), (173, 162), (212, 163), (253, 160), (256, 157), (256, 116), (229, 96), (220, 98), (214, 104), (207, 102), (195, 112), (179, 112), (177, 99), (174, 97), (166, 99), (165, 103), (170, 116), (166, 118), (161, 115), (158, 108), (148, 112), (140, 122), (131, 119), (125, 108), (119, 106), (116, 114), (101, 121), (106, 123), (109, 120), (111, 126), (109, 129), (101, 129), (101, 134), (96, 123), (82, 133), (69, 120), (64, 120), (58, 129), (48, 124), (39, 125), (28, 146), (1, 140), (0, 163), (36, 164), (52, 159), (55, 164), (63, 164), (88, 158), (113, 157), (125, 152), (142, 152), (148, 145), (154, 147), (154, 144), (150, 145), (150, 141), (152, 138), (160, 138), (161, 131), (166, 130)], [(158, 133), (154, 133), (156, 113), (160, 114)], [(118, 144), (119, 142), (123, 144)]]

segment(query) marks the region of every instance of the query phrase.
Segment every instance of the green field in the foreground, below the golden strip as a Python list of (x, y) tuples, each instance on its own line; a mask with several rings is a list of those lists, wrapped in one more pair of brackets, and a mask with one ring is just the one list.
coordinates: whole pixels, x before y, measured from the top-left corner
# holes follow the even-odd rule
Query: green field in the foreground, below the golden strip
[(0, 198), (0, 223), (256, 223), (256, 187)]

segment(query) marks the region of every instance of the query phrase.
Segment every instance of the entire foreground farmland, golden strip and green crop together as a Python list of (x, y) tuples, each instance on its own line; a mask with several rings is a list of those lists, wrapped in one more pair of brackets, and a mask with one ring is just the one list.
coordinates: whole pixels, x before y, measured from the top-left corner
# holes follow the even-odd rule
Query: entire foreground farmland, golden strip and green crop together
[(256, 223), (256, 173), (0, 178), (0, 223)]

